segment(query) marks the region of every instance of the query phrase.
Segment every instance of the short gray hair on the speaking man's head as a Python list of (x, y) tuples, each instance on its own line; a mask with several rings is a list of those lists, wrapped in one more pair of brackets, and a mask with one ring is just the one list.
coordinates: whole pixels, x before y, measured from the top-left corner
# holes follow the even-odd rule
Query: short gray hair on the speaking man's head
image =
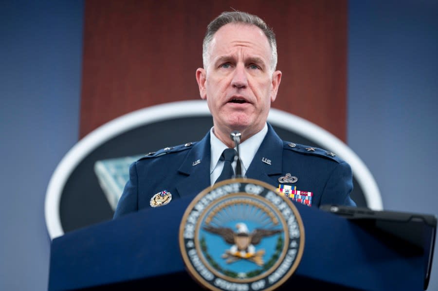
[(266, 25), (263, 19), (259, 18), (258, 16), (240, 11), (222, 12), (222, 14), (208, 24), (207, 32), (205, 33), (204, 41), (202, 42), (202, 62), (204, 68), (207, 69), (208, 65), (208, 47), (210, 42), (219, 28), (229, 23), (255, 25), (263, 31), (265, 36), (268, 38), (269, 44), (271, 45), (271, 70), (274, 72), (275, 68), (277, 67), (277, 41), (275, 40), (274, 31), (268, 27), (268, 25)]

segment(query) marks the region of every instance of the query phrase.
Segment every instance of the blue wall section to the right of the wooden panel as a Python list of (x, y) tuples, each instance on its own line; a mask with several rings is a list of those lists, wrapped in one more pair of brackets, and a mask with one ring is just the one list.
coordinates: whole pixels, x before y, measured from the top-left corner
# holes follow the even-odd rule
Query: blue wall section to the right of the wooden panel
[[(438, 216), (438, 1), (350, 0), (347, 144), (386, 210)], [(438, 251), (428, 290), (438, 290)]]

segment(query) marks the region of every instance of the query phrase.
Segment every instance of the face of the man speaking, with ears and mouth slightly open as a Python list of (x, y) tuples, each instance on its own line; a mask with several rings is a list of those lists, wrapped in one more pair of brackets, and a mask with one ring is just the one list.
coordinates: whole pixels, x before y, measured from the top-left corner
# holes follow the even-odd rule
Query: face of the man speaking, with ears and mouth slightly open
[(226, 24), (208, 50), (207, 67), (196, 72), (201, 98), (218, 138), (229, 144), (230, 132), (238, 130), (243, 141), (264, 127), (280, 84), (268, 38), (254, 25)]

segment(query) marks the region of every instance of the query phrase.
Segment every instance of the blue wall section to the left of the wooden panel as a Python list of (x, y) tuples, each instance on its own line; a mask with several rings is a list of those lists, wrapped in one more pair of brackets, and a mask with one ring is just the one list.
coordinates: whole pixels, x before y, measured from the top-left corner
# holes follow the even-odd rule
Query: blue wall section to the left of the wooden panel
[(47, 184), (77, 142), (83, 1), (0, 1), (0, 290), (47, 290)]

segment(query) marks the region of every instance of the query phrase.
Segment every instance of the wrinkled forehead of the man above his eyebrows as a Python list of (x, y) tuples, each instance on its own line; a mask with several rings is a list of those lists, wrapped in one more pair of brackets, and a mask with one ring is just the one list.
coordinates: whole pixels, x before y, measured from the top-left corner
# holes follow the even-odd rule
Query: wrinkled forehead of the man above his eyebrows
[(229, 23), (219, 28), (210, 43), (209, 55), (211, 59), (215, 59), (232, 55), (242, 48), (249, 54), (266, 58), (266, 61), (270, 59), (271, 46), (268, 37), (257, 26), (243, 23)]

